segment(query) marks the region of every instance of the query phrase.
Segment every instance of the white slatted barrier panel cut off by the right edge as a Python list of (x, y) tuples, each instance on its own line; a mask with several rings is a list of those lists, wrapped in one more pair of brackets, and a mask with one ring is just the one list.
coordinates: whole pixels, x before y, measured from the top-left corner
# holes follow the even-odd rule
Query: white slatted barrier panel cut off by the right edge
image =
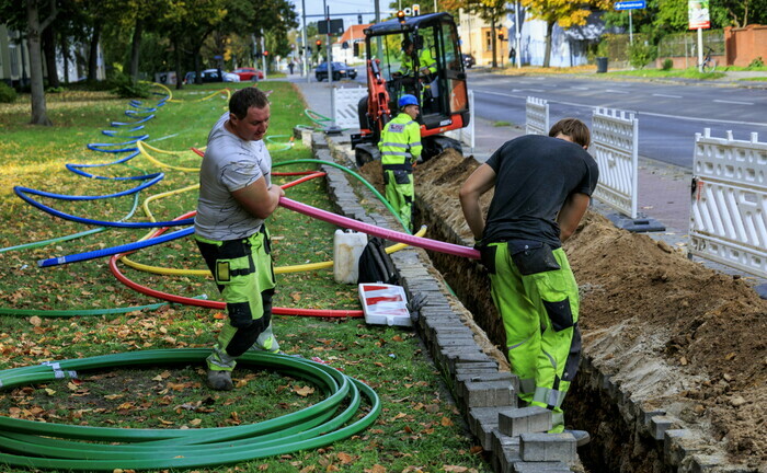
[(695, 136), (691, 254), (767, 277), (767, 143)]

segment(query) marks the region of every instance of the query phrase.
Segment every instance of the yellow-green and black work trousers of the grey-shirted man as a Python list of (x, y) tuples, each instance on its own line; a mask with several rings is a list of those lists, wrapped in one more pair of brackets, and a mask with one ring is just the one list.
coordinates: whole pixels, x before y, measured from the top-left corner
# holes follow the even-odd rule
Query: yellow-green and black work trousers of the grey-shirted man
[(276, 280), (266, 228), (242, 240), (195, 239), (229, 314), (229, 323), (221, 328), (207, 358), (208, 369), (230, 371), (248, 349), (278, 351), (272, 331)]

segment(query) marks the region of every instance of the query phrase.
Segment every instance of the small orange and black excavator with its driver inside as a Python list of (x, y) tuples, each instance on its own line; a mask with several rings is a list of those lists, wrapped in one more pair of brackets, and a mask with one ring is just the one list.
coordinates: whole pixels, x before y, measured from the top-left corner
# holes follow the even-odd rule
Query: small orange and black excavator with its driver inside
[(448, 13), (393, 19), (365, 30), (368, 94), (357, 105), (358, 135), (352, 135), (357, 165), (380, 159), (377, 143), (396, 116), (403, 94), (419, 99), (422, 159), (446, 148), (461, 151), (445, 131), (469, 125), (466, 71), (458, 31)]

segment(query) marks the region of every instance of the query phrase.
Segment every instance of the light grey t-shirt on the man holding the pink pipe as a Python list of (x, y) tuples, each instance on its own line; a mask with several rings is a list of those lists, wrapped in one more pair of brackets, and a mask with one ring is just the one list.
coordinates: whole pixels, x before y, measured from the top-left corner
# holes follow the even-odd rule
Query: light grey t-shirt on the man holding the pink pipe
[(224, 126), (221, 115), (208, 135), (208, 146), (199, 166), (199, 199), (194, 231), (208, 240), (237, 240), (261, 229), (262, 219), (245, 210), (231, 193), (262, 176), (272, 186), (272, 157), (262, 140), (245, 141)]

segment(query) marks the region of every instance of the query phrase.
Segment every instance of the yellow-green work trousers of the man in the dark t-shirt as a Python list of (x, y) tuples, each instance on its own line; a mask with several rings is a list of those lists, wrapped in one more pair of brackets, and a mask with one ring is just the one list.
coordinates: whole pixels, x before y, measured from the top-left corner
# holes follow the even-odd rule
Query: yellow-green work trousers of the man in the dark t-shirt
[[(530, 265), (519, 259), (523, 256), (512, 256), (518, 251), (514, 242), (491, 243), (488, 250), (495, 253), (495, 267), (489, 268), (491, 292), (503, 319), (508, 361), (519, 378), (518, 395), (530, 405), (552, 411), (551, 431), (560, 432), (564, 429), (562, 402), (581, 355), (577, 284), (570, 263), (561, 247), (551, 251), (543, 245), (541, 251), (548, 251), (549, 261), (556, 261), (553, 266), (559, 269), (523, 275)], [(536, 270), (535, 261), (531, 266)]]

